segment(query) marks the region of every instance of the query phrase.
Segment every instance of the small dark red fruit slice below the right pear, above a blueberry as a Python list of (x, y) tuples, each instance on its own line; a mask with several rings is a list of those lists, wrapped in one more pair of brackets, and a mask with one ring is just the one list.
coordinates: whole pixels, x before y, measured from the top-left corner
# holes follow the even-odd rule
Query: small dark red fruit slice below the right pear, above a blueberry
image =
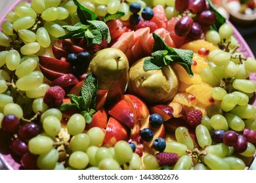
[(163, 118), (163, 122), (166, 122), (167, 120), (173, 118), (173, 107), (169, 105), (155, 105), (152, 107), (149, 107), (150, 114), (160, 114), (161, 118)]

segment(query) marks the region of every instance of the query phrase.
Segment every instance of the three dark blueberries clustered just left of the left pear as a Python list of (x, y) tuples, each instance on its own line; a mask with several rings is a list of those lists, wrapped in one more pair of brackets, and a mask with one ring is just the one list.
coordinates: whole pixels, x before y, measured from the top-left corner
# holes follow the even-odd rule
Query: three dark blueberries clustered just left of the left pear
[(88, 69), (91, 59), (89, 52), (80, 52), (79, 54), (68, 54), (67, 61), (72, 64), (74, 75), (81, 76)]

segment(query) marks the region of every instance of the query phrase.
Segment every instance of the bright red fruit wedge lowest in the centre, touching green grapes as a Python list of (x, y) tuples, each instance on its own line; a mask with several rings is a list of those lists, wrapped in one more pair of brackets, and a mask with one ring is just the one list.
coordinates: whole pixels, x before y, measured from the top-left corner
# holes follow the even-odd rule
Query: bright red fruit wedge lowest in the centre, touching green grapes
[(118, 141), (128, 141), (129, 129), (123, 123), (110, 116), (106, 127), (103, 146), (112, 147)]

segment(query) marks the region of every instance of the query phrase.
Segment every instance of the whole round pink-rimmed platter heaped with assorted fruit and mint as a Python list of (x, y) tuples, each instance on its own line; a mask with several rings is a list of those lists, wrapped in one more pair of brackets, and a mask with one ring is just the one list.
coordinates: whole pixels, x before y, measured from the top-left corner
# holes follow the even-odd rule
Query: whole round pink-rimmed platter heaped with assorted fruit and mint
[(0, 24), (7, 169), (253, 164), (256, 60), (211, 1), (16, 1)]

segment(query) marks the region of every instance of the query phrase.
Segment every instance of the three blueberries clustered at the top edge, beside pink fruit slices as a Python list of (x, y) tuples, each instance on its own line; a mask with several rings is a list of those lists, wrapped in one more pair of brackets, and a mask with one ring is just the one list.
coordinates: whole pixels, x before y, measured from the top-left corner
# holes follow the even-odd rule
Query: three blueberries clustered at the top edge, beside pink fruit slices
[[(133, 25), (139, 24), (140, 19), (141, 19), (140, 15), (139, 15), (139, 12), (141, 10), (140, 4), (136, 3), (136, 2), (131, 3), (129, 5), (129, 10), (133, 13), (133, 14), (131, 14), (130, 19), (129, 19), (131, 24), (133, 24)], [(150, 7), (145, 7), (142, 9), (141, 16), (144, 20), (151, 20), (154, 16), (154, 11)]]

